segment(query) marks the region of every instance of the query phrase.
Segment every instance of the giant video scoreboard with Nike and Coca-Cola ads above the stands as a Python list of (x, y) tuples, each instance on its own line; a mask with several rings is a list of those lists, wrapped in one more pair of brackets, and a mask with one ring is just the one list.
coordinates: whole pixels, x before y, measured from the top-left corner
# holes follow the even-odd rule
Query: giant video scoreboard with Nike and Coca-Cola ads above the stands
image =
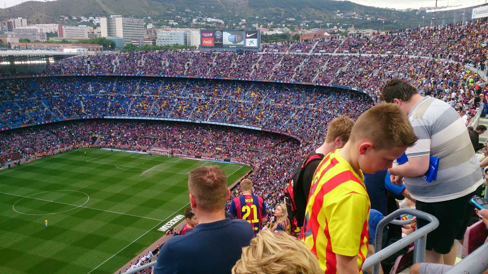
[(259, 30), (200, 30), (200, 44), (211, 48), (259, 48)]

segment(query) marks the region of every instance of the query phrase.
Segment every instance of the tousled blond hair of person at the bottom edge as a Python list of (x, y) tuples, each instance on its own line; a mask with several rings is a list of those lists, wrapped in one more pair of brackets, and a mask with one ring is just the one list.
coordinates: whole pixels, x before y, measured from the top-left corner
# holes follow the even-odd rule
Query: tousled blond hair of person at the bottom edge
[(305, 242), (283, 231), (262, 230), (243, 247), (243, 254), (232, 274), (319, 274), (317, 257)]

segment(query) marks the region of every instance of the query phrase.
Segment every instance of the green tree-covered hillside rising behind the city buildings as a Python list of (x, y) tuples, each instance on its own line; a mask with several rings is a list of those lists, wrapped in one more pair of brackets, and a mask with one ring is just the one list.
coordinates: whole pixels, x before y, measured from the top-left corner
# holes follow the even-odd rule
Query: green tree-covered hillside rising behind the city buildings
[[(190, 10), (190, 11), (185, 11)], [(365, 18), (338, 18), (336, 14), (356, 12)], [(350, 1), (335, 0), (57, 0), (49, 2), (26, 1), (22, 4), (0, 9), (0, 19), (22, 17), (29, 23), (60, 22), (60, 16), (124, 16), (151, 17), (151, 20), (182, 17), (213, 17), (226, 24), (242, 19), (260, 24), (288, 23), (287, 18), (296, 20), (322, 20), (324, 23), (349, 23), (360, 28), (386, 29), (415, 27), (422, 24), (422, 14), (400, 12), (383, 8), (359, 5)], [(425, 14), (424, 14), (425, 15)], [(256, 17), (259, 17), (256, 19)], [(366, 17), (375, 18), (366, 20)], [(313, 22), (309, 24), (313, 25)]]

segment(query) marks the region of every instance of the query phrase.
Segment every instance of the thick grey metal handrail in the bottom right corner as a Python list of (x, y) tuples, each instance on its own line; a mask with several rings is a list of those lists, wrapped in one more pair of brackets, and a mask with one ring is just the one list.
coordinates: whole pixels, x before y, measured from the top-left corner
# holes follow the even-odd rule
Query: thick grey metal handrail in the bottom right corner
[(446, 274), (482, 274), (488, 270), (488, 242), (454, 265)]

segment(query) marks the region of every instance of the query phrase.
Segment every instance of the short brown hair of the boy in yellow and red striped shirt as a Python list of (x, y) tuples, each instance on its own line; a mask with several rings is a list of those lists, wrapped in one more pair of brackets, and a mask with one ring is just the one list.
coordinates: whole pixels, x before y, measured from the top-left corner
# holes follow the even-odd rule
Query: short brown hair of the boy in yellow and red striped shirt
[(368, 139), (377, 150), (410, 147), (418, 140), (407, 115), (390, 103), (376, 105), (363, 113), (352, 127), (350, 138)]

